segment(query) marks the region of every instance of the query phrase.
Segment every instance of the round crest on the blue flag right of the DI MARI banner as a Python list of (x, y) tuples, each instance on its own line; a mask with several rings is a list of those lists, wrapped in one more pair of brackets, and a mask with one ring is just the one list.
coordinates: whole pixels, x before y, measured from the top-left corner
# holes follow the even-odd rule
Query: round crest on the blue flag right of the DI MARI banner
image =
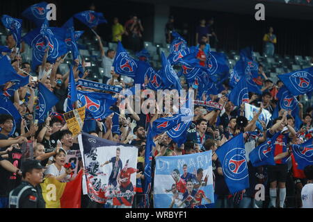
[(226, 153), (223, 161), (224, 176), (230, 180), (242, 180), (248, 176), (245, 172), (247, 168), (245, 153), (243, 148), (234, 148)]

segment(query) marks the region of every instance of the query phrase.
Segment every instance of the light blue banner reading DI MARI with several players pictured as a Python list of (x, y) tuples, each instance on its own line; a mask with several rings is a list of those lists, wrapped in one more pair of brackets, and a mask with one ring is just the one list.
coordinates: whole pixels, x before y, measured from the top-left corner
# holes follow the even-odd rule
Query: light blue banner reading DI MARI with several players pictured
[(157, 157), (154, 208), (195, 208), (214, 203), (212, 151)]

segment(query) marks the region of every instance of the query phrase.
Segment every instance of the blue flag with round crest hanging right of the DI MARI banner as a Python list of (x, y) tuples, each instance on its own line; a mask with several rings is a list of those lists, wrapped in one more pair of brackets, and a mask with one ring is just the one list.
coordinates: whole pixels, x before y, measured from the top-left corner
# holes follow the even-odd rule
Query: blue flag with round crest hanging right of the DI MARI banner
[(223, 176), (230, 194), (249, 187), (248, 162), (246, 160), (243, 133), (233, 137), (217, 149)]

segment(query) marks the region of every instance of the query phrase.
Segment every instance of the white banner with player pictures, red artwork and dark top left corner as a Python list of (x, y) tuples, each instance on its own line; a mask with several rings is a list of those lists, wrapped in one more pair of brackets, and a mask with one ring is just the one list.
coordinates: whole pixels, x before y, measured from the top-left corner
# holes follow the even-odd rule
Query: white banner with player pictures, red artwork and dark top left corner
[(97, 203), (131, 207), (136, 194), (138, 148), (82, 133), (83, 194)]

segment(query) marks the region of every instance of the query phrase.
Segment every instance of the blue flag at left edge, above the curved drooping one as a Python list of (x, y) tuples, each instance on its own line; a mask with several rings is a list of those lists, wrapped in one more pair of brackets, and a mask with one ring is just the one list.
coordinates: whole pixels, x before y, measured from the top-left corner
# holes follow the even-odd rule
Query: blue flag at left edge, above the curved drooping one
[(3, 56), (3, 58), (0, 59), (0, 67), (0, 85), (10, 81), (15, 83), (15, 85), (10, 88), (16, 90), (19, 89), (19, 87), (29, 84), (29, 76), (20, 76), (17, 74), (7, 56)]

